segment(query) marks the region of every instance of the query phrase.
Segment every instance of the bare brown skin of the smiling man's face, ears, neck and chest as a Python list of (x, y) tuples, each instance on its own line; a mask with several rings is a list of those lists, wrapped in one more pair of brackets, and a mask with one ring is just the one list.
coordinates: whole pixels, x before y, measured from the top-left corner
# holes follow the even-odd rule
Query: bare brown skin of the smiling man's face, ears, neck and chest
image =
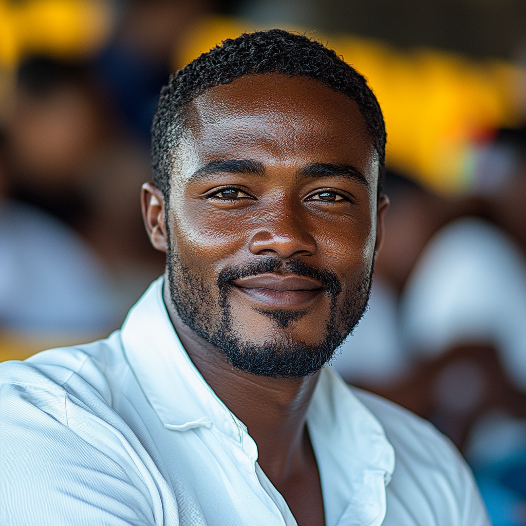
[[(341, 301), (370, 272), (388, 206), (385, 196), (377, 203), (378, 159), (358, 106), (315, 80), (268, 74), (211, 88), (191, 103), (189, 112), (188, 133), (171, 175), (168, 218), (162, 193), (151, 183), (143, 186), (143, 215), (153, 246), (167, 250), (168, 229), (171, 250), (212, 295), (217, 295), (222, 269), (271, 256), (335, 272)], [(260, 169), (202, 170), (213, 161), (232, 159), (250, 160)], [(359, 176), (349, 176), (349, 169), (345, 174), (341, 169), (306, 174), (316, 163), (353, 167)], [(192, 177), (198, 170), (203, 173)], [(295, 282), (294, 276), (279, 272), (264, 278), (239, 282), (230, 295), (238, 336), (255, 343), (276, 338), (320, 342), (329, 316), (327, 296), (305, 292), (305, 278)], [(279, 285), (287, 280), (285, 287)], [(211, 388), (246, 424), (260, 467), (298, 524), (325, 524), (305, 425), (318, 373), (285, 379), (232, 369), (215, 346), (179, 318), (167, 281), (165, 302), (179, 338)], [(277, 327), (261, 308), (305, 313)]]

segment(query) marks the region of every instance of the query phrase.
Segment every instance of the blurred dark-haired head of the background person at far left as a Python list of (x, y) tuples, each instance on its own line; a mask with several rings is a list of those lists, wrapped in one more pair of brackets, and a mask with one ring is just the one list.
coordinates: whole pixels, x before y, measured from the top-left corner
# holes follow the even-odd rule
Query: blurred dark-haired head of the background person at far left
[(76, 225), (87, 214), (83, 167), (104, 140), (102, 115), (85, 68), (47, 57), (19, 68), (8, 130), (9, 191)]

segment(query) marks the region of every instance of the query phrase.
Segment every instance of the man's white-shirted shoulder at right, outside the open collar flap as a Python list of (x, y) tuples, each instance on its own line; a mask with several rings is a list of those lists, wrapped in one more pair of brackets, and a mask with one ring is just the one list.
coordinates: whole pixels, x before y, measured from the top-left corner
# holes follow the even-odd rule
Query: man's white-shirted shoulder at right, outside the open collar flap
[(432, 424), (370, 392), (351, 388), (395, 449), (386, 526), (485, 526), (484, 505), (466, 461)]

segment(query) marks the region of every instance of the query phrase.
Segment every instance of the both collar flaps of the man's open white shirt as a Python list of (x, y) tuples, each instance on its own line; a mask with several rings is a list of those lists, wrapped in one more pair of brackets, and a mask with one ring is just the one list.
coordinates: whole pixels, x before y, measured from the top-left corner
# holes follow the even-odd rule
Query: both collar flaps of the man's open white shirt
[[(171, 324), (161, 277), (129, 311), (124, 352), (164, 427), (186, 431), (214, 425), (242, 441), (246, 427), (200, 375)], [(327, 524), (381, 524), (395, 453), (373, 414), (343, 380), (324, 368), (307, 413), (326, 505)]]

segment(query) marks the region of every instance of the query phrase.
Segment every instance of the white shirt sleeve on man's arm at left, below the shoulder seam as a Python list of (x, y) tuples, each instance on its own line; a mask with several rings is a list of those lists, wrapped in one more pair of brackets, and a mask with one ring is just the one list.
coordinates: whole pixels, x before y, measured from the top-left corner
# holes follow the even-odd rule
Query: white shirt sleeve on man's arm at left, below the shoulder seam
[[(70, 429), (67, 394), (56, 388), (0, 383), (0, 524), (158, 523), (149, 493), (130, 469)], [(100, 434), (89, 421), (85, 427)]]

